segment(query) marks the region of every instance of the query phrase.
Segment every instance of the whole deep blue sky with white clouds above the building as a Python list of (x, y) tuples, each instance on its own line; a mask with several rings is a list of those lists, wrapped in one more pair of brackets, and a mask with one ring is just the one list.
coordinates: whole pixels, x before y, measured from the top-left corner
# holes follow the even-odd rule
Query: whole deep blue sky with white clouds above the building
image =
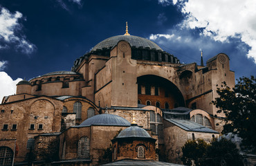
[(256, 71), (255, 0), (0, 0), (0, 100), (20, 80), (71, 71), (102, 40), (151, 39), (181, 63), (230, 57), (235, 78)]

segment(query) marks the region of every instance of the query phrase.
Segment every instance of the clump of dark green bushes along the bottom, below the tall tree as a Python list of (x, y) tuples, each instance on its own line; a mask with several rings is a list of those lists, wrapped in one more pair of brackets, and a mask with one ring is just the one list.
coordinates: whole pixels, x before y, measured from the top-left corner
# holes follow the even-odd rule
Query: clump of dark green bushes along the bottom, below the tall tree
[(182, 152), (181, 160), (185, 165), (243, 165), (236, 145), (225, 138), (213, 139), (210, 144), (204, 140), (188, 140)]

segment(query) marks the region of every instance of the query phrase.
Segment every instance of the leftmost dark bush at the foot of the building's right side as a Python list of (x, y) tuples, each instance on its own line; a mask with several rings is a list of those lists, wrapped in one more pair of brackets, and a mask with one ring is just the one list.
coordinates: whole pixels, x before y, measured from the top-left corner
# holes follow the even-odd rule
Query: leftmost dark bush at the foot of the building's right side
[(182, 147), (183, 156), (181, 160), (185, 165), (201, 165), (201, 158), (205, 155), (208, 144), (202, 140), (188, 140)]

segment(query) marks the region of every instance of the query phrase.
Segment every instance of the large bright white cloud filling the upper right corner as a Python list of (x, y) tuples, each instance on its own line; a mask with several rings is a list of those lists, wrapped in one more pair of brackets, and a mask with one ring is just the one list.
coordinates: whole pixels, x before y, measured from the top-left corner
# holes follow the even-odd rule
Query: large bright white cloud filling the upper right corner
[(201, 35), (219, 42), (228, 42), (228, 37), (241, 38), (251, 47), (247, 56), (256, 63), (255, 8), (255, 0), (188, 0), (181, 6), (181, 12), (187, 15), (181, 27), (205, 28)]

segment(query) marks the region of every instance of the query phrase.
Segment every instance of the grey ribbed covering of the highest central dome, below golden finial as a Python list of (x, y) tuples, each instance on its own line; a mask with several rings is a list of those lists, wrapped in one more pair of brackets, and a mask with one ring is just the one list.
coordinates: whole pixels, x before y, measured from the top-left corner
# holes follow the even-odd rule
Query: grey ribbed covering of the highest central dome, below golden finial
[(103, 48), (113, 48), (121, 40), (125, 40), (129, 42), (131, 46), (135, 46), (136, 48), (143, 47), (143, 48), (149, 48), (149, 49), (162, 50), (162, 48), (160, 48), (157, 44), (155, 44), (149, 39), (145, 39), (143, 37), (137, 37), (133, 35), (118, 35), (118, 36), (113, 36), (113, 37), (104, 39), (102, 42), (94, 46), (93, 49), (91, 49), (91, 51), (98, 50), (98, 49), (102, 50)]

